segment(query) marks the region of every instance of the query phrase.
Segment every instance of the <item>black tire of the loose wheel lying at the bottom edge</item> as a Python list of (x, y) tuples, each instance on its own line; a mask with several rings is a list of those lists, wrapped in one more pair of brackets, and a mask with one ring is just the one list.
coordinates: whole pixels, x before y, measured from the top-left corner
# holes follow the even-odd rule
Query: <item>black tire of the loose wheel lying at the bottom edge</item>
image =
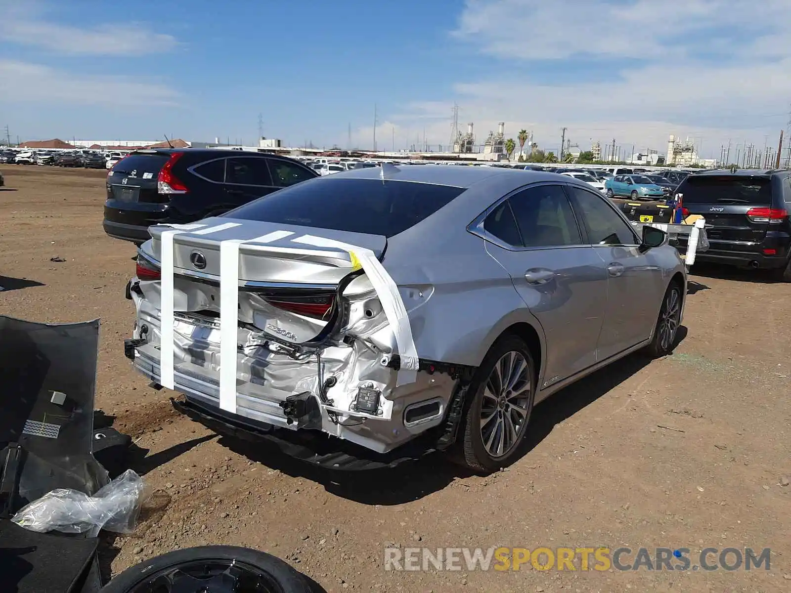
[[(237, 546), (200, 546), (175, 550), (153, 557), (121, 572), (115, 579), (102, 587), (100, 593), (151, 591), (150, 588), (142, 587), (153, 582), (157, 576), (165, 575), (176, 568), (184, 571), (187, 567), (199, 568), (202, 565), (230, 566), (232, 562), (236, 562), (236, 567), (252, 568), (262, 574), (266, 579), (267, 588), (263, 588), (261, 591), (311, 593), (308, 581), (286, 562), (271, 554)], [(200, 572), (197, 574), (200, 575)], [(156, 590), (160, 591), (158, 588)]]

